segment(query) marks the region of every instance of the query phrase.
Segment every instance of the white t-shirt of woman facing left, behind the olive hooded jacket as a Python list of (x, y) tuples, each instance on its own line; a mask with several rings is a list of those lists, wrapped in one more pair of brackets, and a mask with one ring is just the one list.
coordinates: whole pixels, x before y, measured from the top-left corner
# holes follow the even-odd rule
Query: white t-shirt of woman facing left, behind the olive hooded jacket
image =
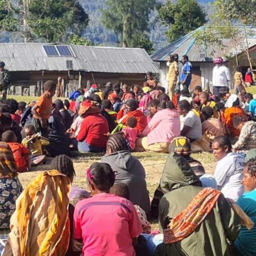
[(225, 198), (237, 201), (243, 194), (243, 167), (245, 160), (237, 153), (230, 152), (218, 161), (214, 177)]

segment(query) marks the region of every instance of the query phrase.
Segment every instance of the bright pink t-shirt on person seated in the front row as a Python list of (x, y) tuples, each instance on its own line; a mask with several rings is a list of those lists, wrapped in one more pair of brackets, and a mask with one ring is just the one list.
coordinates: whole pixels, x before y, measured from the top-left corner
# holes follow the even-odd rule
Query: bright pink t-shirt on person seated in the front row
[(84, 256), (135, 256), (132, 238), (142, 233), (133, 204), (114, 194), (97, 194), (75, 206), (74, 238)]

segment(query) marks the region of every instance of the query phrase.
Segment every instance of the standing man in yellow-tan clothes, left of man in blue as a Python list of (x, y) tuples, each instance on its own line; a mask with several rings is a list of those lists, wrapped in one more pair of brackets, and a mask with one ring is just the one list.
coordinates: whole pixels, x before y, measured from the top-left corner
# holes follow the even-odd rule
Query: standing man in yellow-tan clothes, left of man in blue
[(174, 55), (171, 54), (168, 57), (168, 62), (170, 63), (169, 66), (169, 72), (168, 72), (168, 91), (169, 91), (169, 97), (170, 100), (173, 100), (173, 94), (174, 94), (174, 90), (175, 90), (175, 86), (177, 83), (177, 77), (179, 75), (179, 67), (177, 62), (174, 60)]

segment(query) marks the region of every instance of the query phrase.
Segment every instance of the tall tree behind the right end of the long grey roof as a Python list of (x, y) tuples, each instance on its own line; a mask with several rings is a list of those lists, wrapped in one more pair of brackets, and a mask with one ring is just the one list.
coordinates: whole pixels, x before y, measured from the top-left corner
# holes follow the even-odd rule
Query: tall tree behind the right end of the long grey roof
[(102, 10), (103, 25), (115, 32), (123, 47), (138, 47), (138, 35), (144, 37), (148, 31), (149, 14), (156, 4), (157, 0), (106, 0), (106, 9)]

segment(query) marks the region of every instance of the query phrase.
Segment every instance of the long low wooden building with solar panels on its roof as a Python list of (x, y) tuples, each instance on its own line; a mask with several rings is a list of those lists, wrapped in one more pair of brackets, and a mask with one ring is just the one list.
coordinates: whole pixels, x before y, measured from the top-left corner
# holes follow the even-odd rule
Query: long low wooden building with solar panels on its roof
[(107, 82), (141, 84), (159, 69), (145, 49), (71, 44), (2, 43), (0, 61), (11, 75), (11, 93), (39, 95), (48, 79), (63, 78), (66, 94)]

